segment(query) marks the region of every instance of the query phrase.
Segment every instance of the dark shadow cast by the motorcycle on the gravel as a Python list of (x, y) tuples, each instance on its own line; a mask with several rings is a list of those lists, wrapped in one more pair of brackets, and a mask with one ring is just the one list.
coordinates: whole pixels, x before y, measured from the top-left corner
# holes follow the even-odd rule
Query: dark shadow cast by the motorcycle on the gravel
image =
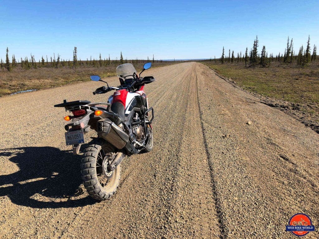
[[(0, 196), (33, 208), (67, 208), (96, 203), (83, 191), (81, 156), (54, 147), (0, 149), (19, 170), (0, 175)], [(10, 167), (6, 165), (6, 167)], [(10, 170), (10, 168), (9, 168)]]

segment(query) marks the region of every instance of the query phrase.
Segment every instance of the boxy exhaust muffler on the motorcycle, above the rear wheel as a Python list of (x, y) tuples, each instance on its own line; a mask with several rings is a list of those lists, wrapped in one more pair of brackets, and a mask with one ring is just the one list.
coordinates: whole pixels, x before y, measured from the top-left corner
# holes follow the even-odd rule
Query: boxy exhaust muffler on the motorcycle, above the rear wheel
[(118, 149), (124, 148), (129, 141), (129, 135), (109, 119), (97, 122), (97, 133), (99, 137), (105, 139)]

